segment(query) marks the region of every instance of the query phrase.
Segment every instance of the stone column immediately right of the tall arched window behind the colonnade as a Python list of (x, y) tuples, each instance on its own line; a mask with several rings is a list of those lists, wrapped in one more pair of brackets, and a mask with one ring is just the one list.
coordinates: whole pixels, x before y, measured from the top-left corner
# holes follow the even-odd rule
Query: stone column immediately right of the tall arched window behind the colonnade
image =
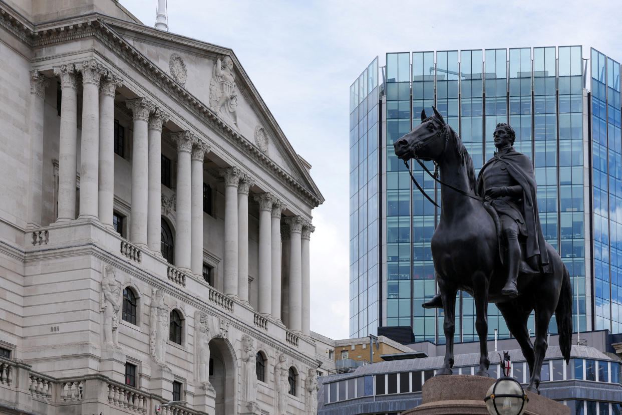
[(175, 266), (190, 271), (190, 152), (197, 139), (190, 131), (171, 135), (177, 142), (177, 216), (175, 217)]

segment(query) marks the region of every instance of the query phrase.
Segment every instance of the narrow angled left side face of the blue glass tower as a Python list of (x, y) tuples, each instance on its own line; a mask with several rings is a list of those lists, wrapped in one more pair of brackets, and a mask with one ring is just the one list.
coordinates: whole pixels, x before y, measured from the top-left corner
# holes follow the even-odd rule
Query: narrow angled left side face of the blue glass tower
[(378, 328), (378, 116), (375, 58), (350, 86), (350, 337)]

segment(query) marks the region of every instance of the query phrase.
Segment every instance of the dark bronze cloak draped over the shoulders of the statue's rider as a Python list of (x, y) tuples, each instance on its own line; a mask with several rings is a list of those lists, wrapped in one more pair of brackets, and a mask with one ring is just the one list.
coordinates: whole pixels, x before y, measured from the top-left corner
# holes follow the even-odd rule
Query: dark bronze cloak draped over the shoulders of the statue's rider
[(534, 167), (529, 157), (518, 152), (514, 147), (510, 147), (503, 154), (495, 153), (494, 157), (481, 167), (480, 174), (477, 177), (475, 190), (478, 195), (484, 195), (484, 180), (482, 172), (486, 170), (491, 162), (498, 160), (502, 162), (508, 169), (509, 175), (513, 177), (522, 187), (522, 217), (527, 227), (527, 238), (525, 242), (525, 256), (531, 258), (538, 255), (538, 263), (542, 266), (544, 273), (550, 273), (549, 254), (547, 253), (544, 235), (542, 235), (542, 227), (540, 225), (540, 217), (538, 215), (538, 204), (536, 198), (536, 175)]

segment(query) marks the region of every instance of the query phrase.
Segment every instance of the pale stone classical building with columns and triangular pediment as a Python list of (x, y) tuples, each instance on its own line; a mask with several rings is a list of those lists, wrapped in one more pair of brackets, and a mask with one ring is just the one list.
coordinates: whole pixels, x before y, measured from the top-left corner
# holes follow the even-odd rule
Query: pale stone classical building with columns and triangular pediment
[(233, 51), (115, 0), (0, 32), (0, 413), (315, 413), (323, 197)]

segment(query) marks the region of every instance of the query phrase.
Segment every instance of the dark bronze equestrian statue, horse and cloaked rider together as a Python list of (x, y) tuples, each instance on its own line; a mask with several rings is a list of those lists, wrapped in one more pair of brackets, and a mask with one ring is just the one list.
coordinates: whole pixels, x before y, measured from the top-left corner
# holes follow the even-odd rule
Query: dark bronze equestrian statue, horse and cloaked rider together
[[(488, 376), (488, 302), (494, 302), (529, 365), (527, 390), (539, 393), (540, 371), (547, 349), (547, 330), (555, 312), (559, 345), (568, 362), (572, 337), (572, 286), (555, 249), (542, 235), (536, 200), (536, 178), (529, 157), (513, 147), (515, 134), (498, 124), (498, 151), (475, 179), (473, 161), (458, 134), (433, 107), (421, 124), (393, 146), (404, 161), (432, 160), (439, 167), (442, 206), (430, 248), (439, 294), (425, 303), (445, 311), (447, 346), (437, 375), (452, 375), (455, 298), (458, 290), (475, 300), (475, 328), (480, 338), (476, 375)], [(536, 341), (527, 319), (535, 310)]]

